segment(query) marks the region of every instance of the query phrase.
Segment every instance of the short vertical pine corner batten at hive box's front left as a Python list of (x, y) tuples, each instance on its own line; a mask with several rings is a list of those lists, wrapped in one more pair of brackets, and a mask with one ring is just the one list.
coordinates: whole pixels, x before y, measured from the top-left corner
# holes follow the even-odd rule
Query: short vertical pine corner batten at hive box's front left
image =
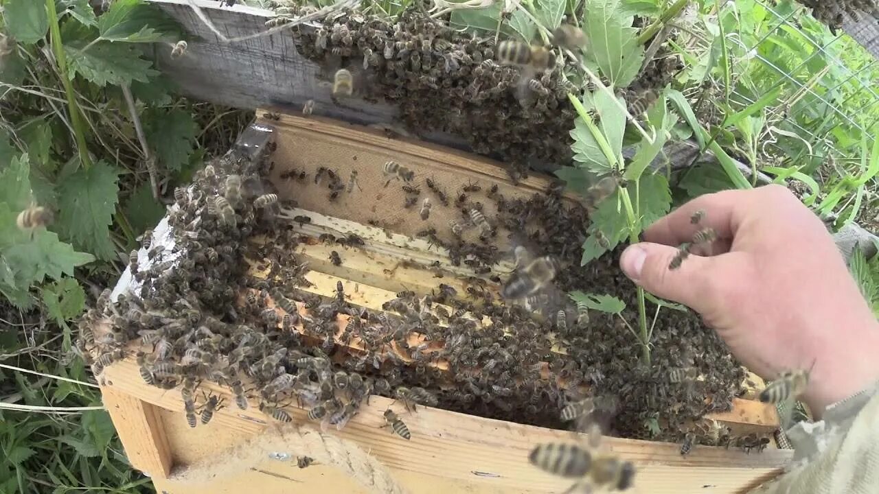
[(135, 469), (161, 478), (171, 472), (171, 448), (156, 406), (112, 386), (101, 387), (104, 406)]

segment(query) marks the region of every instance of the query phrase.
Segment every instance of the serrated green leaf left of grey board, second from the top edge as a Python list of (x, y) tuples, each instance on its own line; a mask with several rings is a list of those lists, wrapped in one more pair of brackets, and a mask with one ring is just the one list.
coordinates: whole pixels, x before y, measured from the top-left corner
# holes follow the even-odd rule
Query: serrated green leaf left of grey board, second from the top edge
[(131, 84), (132, 81), (146, 83), (150, 76), (158, 74), (150, 69), (152, 62), (142, 59), (141, 52), (135, 47), (109, 41), (98, 42), (87, 50), (84, 49), (86, 46), (87, 43), (79, 40), (64, 45), (71, 78), (79, 74), (103, 87), (106, 84)]

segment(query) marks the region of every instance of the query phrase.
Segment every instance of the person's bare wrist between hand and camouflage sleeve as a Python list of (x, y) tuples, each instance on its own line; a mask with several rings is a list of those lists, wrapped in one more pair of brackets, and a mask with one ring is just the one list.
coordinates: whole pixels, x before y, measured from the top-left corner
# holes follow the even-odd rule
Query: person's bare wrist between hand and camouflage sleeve
[(815, 343), (815, 364), (801, 399), (817, 419), (827, 406), (879, 381), (879, 322), (871, 317)]

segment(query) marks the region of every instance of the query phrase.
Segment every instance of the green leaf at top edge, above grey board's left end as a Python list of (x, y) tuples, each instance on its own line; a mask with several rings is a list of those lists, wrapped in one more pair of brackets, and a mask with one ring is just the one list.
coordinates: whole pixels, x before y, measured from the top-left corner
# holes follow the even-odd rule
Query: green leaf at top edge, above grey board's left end
[(177, 22), (156, 5), (142, 0), (116, 0), (98, 18), (102, 40), (127, 43), (176, 42), (183, 36)]

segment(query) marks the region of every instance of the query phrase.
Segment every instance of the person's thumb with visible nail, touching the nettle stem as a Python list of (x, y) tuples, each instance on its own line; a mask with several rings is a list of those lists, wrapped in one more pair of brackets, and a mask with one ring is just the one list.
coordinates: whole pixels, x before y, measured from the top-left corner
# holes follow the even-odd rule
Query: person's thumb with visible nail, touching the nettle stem
[(711, 309), (716, 294), (717, 264), (722, 257), (691, 254), (677, 269), (669, 269), (678, 249), (661, 243), (634, 243), (622, 252), (626, 276), (651, 294), (677, 301), (700, 313)]

